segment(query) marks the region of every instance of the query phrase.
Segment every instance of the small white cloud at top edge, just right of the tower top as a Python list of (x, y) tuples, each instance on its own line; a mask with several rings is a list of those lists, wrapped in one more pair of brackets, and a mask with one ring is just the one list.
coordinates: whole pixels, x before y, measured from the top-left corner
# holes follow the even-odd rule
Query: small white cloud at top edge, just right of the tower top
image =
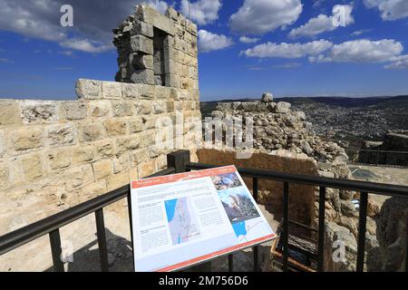
[(186, 17), (191, 15), (191, 20), (200, 25), (205, 25), (219, 19), (220, 0), (198, 0), (190, 3), (188, 0), (181, 0), (181, 13)]

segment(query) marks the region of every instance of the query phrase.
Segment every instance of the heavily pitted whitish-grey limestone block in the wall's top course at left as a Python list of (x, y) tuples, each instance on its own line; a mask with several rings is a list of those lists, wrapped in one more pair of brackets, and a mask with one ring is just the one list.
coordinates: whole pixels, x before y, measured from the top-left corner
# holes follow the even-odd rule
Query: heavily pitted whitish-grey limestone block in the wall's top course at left
[(58, 120), (57, 102), (21, 101), (21, 118), (24, 124), (44, 123)]

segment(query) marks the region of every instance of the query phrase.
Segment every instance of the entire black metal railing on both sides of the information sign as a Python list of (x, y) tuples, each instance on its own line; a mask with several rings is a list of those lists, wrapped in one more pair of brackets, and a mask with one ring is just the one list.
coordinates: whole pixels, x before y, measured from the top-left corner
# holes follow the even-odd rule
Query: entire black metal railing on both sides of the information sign
[[(215, 165), (201, 164), (190, 162), (189, 151), (180, 150), (170, 153), (167, 156), (168, 169), (164, 169), (151, 177), (163, 176), (173, 173), (180, 173), (189, 170), (210, 169), (215, 168)], [(318, 214), (318, 256), (317, 270), (324, 270), (324, 234), (325, 234), (325, 191), (331, 189), (345, 189), (360, 192), (360, 214), (359, 214), (359, 229), (357, 241), (357, 261), (356, 270), (361, 272), (364, 270), (364, 247), (365, 247), (365, 228), (366, 214), (368, 204), (368, 194), (380, 194), (385, 196), (393, 196), (400, 198), (408, 198), (408, 187), (388, 185), (382, 183), (373, 183), (348, 179), (332, 179), (301, 174), (291, 174), (263, 169), (242, 169), (238, 168), (238, 172), (252, 179), (252, 191), (255, 200), (258, 196), (258, 181), (259, 179), (268, 179), (283, 182), (283, 223), (282, 223), (282, 242), (283, 242), (283, 270), (288, 270), (288, 224), (289, 224), (289, 186), (291, 183), (318, 186), (319, 189), (319, 214)], [(53, 256), (54, 271), (63, 271), (63, 261), (60, 256), (61, 237), (59, 229), (73, 221), (83, 218), (94, 213), (96, 218), (97, 238), (99, 245), (100, 263), (102, 271), (109, 271), (108, 254), (106, 246), (106, 235), (103, 220), (103, 208), (119, 201), (122, 198), (128, 198), (128, 209), (131, 223), (131, 203), (130, 203), (130, 186), (122, 187), (121, 189), (113, 190), (98, 198), (93, 198), (73, 208), (66, 209), (51, 217), (44, 218), (26, 227), (17, 229), (11, 233), (0, 237), (0, 256), (21, 247), (24, 244), (33, 241), (38, 237), (49, 235), (50, 245)], [(131, 225), (130, 225), (131, 226)], [(408, 220), (407, 220), (408, 226)], [(132, 231), (132, 227), (131, 227)], [(407, 230), (408, 233), (408, 230)], [(408, 234), (407, 234), (408, 235)], [(132, 238), (132, 232), (131, 232)], [(408, 239), (408, 237), (407, 237)], [(408, 253), (408, 251), (407, 251)], [(259, 270), (258, 266), (258, 247), (254, 247), (254, 271)], [(408, 256), (408, 254), (407, 254)], [(228, 255), (228, 270), (233, 271), (234, 260), (232, 255)], [(405, 270), (408, 270), (405, 265)]]

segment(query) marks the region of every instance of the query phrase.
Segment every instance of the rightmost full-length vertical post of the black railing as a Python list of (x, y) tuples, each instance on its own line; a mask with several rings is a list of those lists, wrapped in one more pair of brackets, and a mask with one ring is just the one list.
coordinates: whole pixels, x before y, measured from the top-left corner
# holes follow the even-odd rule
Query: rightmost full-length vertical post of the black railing
[(358, 217), (357, 266), (356, 266), (357, 272), (364, 271), (367, 204), (368, 204), (368, 194), (366, 192), (361, 192), (360, 193), (360, 213)]

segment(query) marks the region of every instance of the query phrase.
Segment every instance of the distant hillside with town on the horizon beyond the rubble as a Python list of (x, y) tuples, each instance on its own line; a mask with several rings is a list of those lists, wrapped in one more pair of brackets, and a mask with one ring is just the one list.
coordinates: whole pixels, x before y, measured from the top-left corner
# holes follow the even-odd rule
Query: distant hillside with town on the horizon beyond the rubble
[[(219, 102), (255, 102), (258, 99)], [(292, 110), (304, 111), (316, 133), (325, 139), (357, 144), (362, 140), (382, 140), (389, 130), (408, 130), (408, 95), (395, 97), (287, 97)], [(201, 102), (203, 118), (215, 111), (219, 102)]]

